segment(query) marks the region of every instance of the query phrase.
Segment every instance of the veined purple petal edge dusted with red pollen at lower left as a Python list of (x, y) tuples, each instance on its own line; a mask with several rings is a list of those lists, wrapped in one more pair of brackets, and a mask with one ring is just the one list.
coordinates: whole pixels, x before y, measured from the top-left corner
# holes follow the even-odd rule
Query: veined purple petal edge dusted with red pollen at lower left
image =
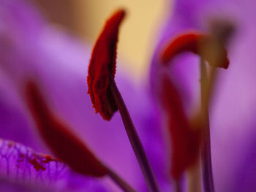
[(62, 161), (3, 139), (0, 140), (0, 176), (15, 183), (57, 191), (106, 191), (100, 180), (76, 174)]

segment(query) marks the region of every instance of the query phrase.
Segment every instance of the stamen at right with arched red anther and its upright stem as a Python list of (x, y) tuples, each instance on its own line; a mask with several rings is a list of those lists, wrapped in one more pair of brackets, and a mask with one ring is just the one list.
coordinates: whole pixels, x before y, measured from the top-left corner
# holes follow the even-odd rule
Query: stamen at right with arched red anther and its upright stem
[[(218, 30), (219, 31), (219, 30)], [(214, 80), (216, 77), (216, 68), (222, 67), (227, 69), (229, 65), (229, 59), (227, 58), (227, 51), (225, 50), (225, 42), (222, 42), (224, 37), (227, 37), (227, 33), (232, 30), (224, 30), (217, 35), (206, 35), (201, 33), (187, 33), (181, 34), (176, 37), (173, 42), (167, 46), (162, 53), (162, 62), (167, 64), (176, 55), (185, 51), (190, 51), (197, 55), (200, 55), (200, 69), (201, 69), (201, 115), (200, 126), (203, 130), (203, 142), (201, 146), (201, 156), (203, 164), (203, 180), (205, 191), (214, 192), (214, 180), (211, 168), (211, 141), (210, 141), (210, 129), (208, 118), (208, 101), (211, 96), (211, 91), (214, 87)], [(211, 65), (209, 78), (207, 77), (205, 61)], [(168, 89), (173, 90), (169, 87)], [(175, 92), (172, 93), (175, 95)], [(176, 100), (174, 100), (176, 101)], [(176, 101), (177, 102), (177, 101)], [(165, 105), (166, 106), (166, 105)], [(171, 106), (170, 106), (171, 107)], [(173, 106), (173, 108), (181, 108)], [(175, 115), (173, 115), (175, 117)], [(176, 117), (178, 119), (178, 117)], [(173, 136), (174, 137), (174, 136)], [(181, 144), (182, 146), (182, 144)]]

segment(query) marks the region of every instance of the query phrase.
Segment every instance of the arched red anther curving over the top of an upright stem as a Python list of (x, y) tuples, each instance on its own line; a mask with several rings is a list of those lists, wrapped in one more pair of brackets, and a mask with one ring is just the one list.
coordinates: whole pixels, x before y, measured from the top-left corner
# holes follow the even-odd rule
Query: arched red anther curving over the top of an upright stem
[(211, 37), (209, 35), (195, 32), (181, 34), (167, 45), (161, 55), (161, 60), (164, 64), (167, 64), (180, 53), (187, 51), (197, 55), (201, 55), (203, 53), (203, 57), (206, 59), (206, 61), (208, 61), (209, 64), (211, 64), (211, 66), (218, 66), (227, 69), (229, 66), (229, 59), (227, 58), (227, 50), (225, 47), (223, 45), (217, 47), (217, 51), (221, 57), (221, 60), (218, 58), (219, 64), (214, 63), (215, 61), (213, 61), (211, 50), (204, 50), (211, 48)]

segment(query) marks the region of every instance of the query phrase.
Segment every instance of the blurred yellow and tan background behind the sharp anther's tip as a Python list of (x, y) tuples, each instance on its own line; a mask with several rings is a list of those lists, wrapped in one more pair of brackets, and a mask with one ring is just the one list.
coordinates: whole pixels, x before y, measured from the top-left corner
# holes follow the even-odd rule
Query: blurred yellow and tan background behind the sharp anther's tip
[[(165, 0), (37, 0), (54, 23), (71, 29), (93, 46), (105, 20), (119, 7), (127, 9), (118, 41), (118, 65), (135, 78), (148, 73), (157, 32), (165, 17)], [(121, 62), (120, 62), (121, 61)]]

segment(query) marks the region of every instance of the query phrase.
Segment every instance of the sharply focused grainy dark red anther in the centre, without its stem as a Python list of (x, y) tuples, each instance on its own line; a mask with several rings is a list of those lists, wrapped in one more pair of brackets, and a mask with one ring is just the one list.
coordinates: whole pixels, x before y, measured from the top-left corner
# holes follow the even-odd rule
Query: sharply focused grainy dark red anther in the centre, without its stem
[(114, 78), (116, 74), (118, 29), (124, 16), (125, 11), (119, 9), (107, 20), (91, 53), (87, 77), (88, 93), (95, 112), (99, 112), (105, 120), (110, 120), (113, 113), (118, 110), (110, 91), (109, 78), (110, 75)]

